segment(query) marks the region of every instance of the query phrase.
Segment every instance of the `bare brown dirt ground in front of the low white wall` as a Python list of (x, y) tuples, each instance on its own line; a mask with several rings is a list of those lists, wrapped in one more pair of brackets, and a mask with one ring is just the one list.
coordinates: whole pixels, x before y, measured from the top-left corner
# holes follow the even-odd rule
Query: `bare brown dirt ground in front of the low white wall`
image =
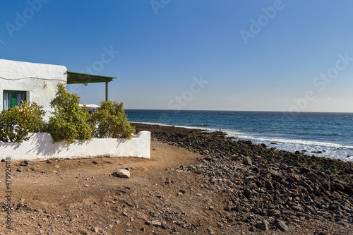
[[(227, 193), (201, 175), (176, 169), (197, 164), (197, 158), (203, 156), (152, 141), (151, 159), (61, 159), (29, 164), (23, 172), (13, 162), (11, 230), (1, 162), (0, 234), (253, 234), (246, 224), (229, 220), (223, 210)], [(118, 169), (129, 169), (131, 178), (112, 176)], [(291, 227), (290, 234), (313, 234), (318, 226), (331, 224), (309, 222)]]

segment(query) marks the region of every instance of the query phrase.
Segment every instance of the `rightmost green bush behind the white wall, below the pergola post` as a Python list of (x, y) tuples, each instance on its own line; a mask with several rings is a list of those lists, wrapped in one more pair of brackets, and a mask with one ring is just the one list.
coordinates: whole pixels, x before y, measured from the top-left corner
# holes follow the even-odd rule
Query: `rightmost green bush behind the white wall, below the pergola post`
[(131, 138), (135, 128), (128, 123), (124, 103), (102, 101), (100, 108), (91, 115), (90, 124), (94, 138)]

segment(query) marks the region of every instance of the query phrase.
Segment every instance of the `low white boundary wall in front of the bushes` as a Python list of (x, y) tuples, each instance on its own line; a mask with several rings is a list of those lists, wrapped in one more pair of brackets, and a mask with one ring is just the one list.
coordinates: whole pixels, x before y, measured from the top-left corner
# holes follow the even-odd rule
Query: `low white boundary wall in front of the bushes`
[(84, 143), (54, 143), (49, 133), (30, 133), (22, 143), (0, 142), (0, 158), (11, 161), (81, 158), (81, 157), (141, 157), (150, 158), (150, 132), (140, 131), (128, 139), (92, 139)]

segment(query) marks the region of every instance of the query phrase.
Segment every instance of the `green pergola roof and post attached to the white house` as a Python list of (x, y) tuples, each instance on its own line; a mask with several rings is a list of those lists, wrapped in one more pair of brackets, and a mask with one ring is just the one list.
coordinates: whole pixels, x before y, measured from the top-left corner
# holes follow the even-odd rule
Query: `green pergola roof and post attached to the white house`
[(105, 100), (108, 101), (108, 83), (115, 77), (67, 71), (67, 84), (105, 83)]

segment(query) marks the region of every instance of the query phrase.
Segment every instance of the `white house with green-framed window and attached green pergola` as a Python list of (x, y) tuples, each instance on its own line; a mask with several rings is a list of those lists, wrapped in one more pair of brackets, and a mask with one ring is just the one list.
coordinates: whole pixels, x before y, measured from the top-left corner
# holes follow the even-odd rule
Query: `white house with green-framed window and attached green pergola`
[(113, 78), (74, 73), (67, 71), (65, 66), (0, 59), (0, 111), (26, 100), (42, 105), (48, 116), (58, 83), (105, 83), (105, 99), (108, 100), (108, 83)]

